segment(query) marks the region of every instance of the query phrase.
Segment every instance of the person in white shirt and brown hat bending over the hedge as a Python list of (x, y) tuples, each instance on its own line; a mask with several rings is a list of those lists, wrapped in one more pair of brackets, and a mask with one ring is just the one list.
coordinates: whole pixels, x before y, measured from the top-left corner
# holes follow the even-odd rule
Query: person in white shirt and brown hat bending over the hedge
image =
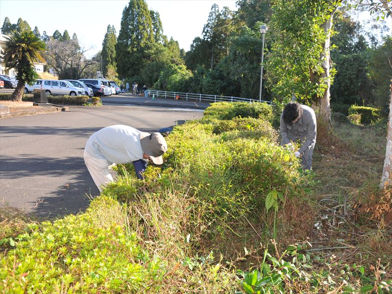
[(104, 127), (87, 140), (84, 162), (99, 191), (102, 186), (113, 182), (117, 173), (112, 166), (116, 163), (133, 163), (136, 176), (143, 178), (147, 161), (163, 163), (162, 154), (168, 150), (162, 134), (145, 133), (131, 126), (117, 124)]

